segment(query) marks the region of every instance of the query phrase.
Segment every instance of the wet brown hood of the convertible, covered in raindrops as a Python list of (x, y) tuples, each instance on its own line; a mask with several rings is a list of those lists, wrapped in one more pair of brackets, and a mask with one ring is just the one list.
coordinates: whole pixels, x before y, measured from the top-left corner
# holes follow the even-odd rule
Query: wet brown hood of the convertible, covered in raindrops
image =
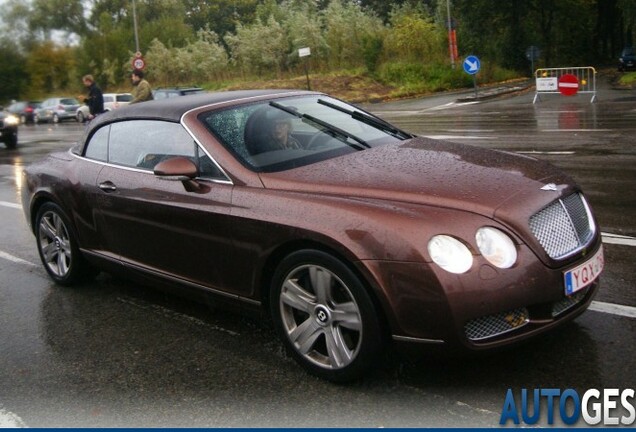
[[(434, 205), (488, 217), (518, 201), (515, 197), (536, 211), (573, 184), (531, 157), (422, 137), (261, 179), (270, 189)], [(557, 193), (542, 191), (547, 183), (555, 183)]]

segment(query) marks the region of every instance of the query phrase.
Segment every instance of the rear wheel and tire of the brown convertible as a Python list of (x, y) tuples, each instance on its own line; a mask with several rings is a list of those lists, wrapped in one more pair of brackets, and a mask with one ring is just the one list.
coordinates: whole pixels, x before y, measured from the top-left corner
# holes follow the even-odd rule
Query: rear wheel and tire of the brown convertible
[(49, 202), (40, 208), (35, 238), (44, 268), (59, 285), (70, 286), (96, 275), (79, 250), (68, 216), (58, 205)]

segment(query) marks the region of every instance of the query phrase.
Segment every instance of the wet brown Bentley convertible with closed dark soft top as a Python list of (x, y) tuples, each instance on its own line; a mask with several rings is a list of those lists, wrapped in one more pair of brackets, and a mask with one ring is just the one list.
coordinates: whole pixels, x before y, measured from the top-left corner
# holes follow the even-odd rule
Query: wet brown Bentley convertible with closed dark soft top
[(548, 162), (414, 136), (316, 92), (129, 105), (22, 184), (58, 284), (107, 270), (261, 310), (333, 381), (389, 343), (482, 351), (554, 329), (603, 268), (584, 193)]

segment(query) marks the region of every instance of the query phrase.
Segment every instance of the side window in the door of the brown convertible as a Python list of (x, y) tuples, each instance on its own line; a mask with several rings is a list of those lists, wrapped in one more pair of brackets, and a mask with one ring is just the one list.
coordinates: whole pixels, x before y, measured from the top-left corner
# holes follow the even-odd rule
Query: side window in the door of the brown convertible
[(152, 170), (162, 160), (185, 156), (195, 160), (195, 143), (178, 123), (131, 120), (113, 123), (108, 161)]

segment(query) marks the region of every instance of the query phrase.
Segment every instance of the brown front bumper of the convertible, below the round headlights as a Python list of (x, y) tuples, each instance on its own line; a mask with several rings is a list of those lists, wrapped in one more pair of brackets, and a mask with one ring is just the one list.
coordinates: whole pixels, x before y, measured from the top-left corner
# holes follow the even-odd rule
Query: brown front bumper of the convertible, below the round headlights
[[(599, 238), (587, 256), (600, 247)], [(481, 351), (527, 339), (584, 312), (598, 280), (566, 296), (563, 274), (585, 259), (552, 269), (522, 246), (517, 265), (506, 270), (481, 257), (462, 275), (426, 263), (366, 264), (379, 281), (395, 342)]]

